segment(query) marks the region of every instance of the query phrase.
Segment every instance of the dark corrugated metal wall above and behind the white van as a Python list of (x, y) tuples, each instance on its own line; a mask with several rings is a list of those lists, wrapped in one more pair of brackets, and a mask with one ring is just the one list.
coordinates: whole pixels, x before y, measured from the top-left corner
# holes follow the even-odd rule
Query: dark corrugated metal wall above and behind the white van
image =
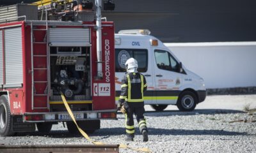
[(164, 42), (256, 41), (255, 0), (115, 1), (102, 16), (121, 29), (149, 29)]

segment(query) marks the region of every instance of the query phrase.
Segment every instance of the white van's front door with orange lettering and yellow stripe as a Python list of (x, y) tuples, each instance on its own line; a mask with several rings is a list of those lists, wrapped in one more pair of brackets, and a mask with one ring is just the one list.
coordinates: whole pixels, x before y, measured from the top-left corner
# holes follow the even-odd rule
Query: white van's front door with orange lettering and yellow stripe
[(179, 62), (170, 52), (154, 49), (154, 78), (157, 104), (176, 104), (182, 75), (179, 72)]

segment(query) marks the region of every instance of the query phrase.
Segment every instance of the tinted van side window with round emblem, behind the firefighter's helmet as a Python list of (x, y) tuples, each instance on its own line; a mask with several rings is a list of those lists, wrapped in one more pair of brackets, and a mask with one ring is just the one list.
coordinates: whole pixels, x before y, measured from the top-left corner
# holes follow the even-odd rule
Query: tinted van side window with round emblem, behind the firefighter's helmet
[(133, 57), (138, 61), (138, 71), (146, 72), (148, 69), (147, 49), (115, 49), (116, 72), (125, 72), (125, 62)]

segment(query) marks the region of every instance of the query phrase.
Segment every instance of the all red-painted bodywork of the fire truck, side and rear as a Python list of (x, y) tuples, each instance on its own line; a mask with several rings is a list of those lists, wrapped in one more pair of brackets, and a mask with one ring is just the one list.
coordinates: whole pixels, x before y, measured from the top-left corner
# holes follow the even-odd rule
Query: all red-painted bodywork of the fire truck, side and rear
[[(20, 25), (22, 27), (22, 59), (23, 59), (23, 84), (19, 88), (0, 88), (0, 92), (8, 91), (10, 99), (10, 109), (13, 115), (22, 115), (30, 112), (50, 112), (47, 108), (36, 108), (32, 109), (31, 103), (31, 27), (26, 25), (26, 22), (12, 22), (7, 24), (0, 24), (4, 28), (12, 28), (12, 25)], [(102, 73), (103, 79), (97, 80), (97, 51), (96, 51), (96, 31), (94, 29), (94, 22), (84, 22), (83, 24), (90, 24), (88, 28), (91, 31), (91, 62), (92, 62), (92, 110), (109, 110), (115, 109), (115, 37), (114, 37), (114, 26), (113, 22), (102, 22)], [(9, 27), (8, 27), (9, 26)], [(68, 26), (68, 25), (57, 25), (59, 27), (72, 27), (72, 28), (83, 28), (81, 26)], [(44, 25), (36, 26), (37, 29), (46, 29)], [(35, 42), (42, 42), (45, 38), (45, 31), (34, 31)], [(3, 33), (4, 37), (4, 33)], [(3, 39), (4, 41), (4, 39)], [(4, 44), (4, 43), (3, 43)], [(33, 54), (34, 55), (47, 55), (47, 43), (34, 43)], [(3, 47), (4, 48), (4, 47)], [(3, 52), (4, 61), (4, 52)], [(42, 83), (36, 83), (35, 91), (36, 94), (44, 94), (45, 88), (47, 87), (47, 57), (34, 57), (34, 68), (43, 68), (40, 70), (34, 70), (34, 80), (41, 81)], [(3, 62), (4, 63), (4, 62)], [(5, 68), (5, 66), (3, 66)], [(1, 72), (2, 73), (2, 72)], [(3, 76), (4, 71), (3, 71)], [(5, 80), (5, 79), (4, 79)], [(93, 88), (94, 85), (98, 87)], [(105, 88), (100, 89), (99, 85), (106, 85)], [(101, 90), (101, 91), (100, 91)], [(104, 90), (110, 90), (109, 96), (104, 96)], [(103, 93), (103, 96), (99, 93)], [(47, 107), (46, 96), (34, 96), (35, 107)]]

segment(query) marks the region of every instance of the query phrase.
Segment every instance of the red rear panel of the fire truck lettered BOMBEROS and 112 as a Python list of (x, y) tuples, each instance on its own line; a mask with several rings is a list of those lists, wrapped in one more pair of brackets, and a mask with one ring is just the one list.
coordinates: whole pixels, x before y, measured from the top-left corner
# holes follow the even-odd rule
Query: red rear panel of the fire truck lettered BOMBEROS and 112
[[(107, 22), (106, 24), (113, 24), (112, 22)], [(104, 24), (102, 24), (104, 25)], [(115, 41), (112, 38), (114, 36), (114, 27), (102, 26), (102, 72), (103, 80), (97, 80), (93, 78), (93, 84), (107, 83), (110, 84), (109, 89), (111, 96), (93, 96), (93, 110), (101, 109), (113, 109), (115, 108)], [(96, 33), (92, 33), (92, 50), (96, 50)], [(96, 52), (92, 52), (92, 61), (97, 61)], [(110, 60), (111, 59), (111, 60)], [(97, 75), (97, 63), (92, 64), (92, 76)], [(104, 87), (100, 88), (93, 87), (93, 94), (99, 94), (99, 92), (104, 92)], [(98, 93), (97, 93), (98, 92)], [(114, 96), (114, 99), (113, 99)]]

